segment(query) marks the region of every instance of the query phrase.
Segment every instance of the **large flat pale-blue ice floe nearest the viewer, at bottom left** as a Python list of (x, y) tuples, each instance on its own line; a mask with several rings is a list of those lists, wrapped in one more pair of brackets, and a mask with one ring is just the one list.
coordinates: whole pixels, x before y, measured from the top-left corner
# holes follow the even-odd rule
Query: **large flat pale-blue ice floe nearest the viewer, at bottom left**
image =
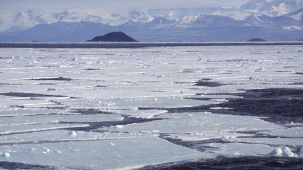
[[(36, 149), (31, 150), (32, 148)], [(45, 148), (49, 149), (47, 154), (43, 153)], [(7, 161), (81, 169), (136, 168), (148, 164), (213, 157), (149, 135), (101, 141), (2, 146), (1, 149), (14, 151)]]

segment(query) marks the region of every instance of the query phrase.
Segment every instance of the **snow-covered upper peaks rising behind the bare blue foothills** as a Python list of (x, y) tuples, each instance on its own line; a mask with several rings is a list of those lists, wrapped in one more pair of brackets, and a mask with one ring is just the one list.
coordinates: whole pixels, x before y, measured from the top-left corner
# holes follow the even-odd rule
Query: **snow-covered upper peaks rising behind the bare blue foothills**
[(0, 17), (0, 31), (22, 31), (38, 24), (52, 24), (56, 22), (94, 22), (112, 26), (129, 21), (146, 23), (158, 17), (169, 20), (188, 20), (201, 15), (218, 15), (245, 20), (252, 15), (266, 15), (269, 17), (288, 16), (300, 21), (303, 14), (303, 0), (252, 0), (240, 8), (177, 8), (177, 9), (147, 9), (132, 10), (128, 16), (111, 14), (98, 16), (94, 14), (79, 14), (75, 11), (27, 11), (20, 12), (11, 18)]

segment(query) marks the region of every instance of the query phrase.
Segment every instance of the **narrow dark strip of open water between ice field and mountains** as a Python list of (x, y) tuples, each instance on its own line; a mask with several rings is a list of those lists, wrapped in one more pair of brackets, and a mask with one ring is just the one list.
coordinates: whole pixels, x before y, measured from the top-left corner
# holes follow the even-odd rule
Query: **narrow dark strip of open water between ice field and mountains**
[(146, 48), (180, 46), (267, 46), (303, 45), (303, 42), (222, 42), (222, 43), (0, 43), (0, 48)]

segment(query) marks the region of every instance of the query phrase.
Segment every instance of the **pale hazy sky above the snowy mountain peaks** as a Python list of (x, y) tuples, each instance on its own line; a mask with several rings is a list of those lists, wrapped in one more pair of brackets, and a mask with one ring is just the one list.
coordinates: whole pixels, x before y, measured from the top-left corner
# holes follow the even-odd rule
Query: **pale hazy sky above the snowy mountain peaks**
[(248, 0), (0, 0), (0, 15), (15, 15), (28, 10), (104, 14), (128, 14), (133, 9), (239, 7)]

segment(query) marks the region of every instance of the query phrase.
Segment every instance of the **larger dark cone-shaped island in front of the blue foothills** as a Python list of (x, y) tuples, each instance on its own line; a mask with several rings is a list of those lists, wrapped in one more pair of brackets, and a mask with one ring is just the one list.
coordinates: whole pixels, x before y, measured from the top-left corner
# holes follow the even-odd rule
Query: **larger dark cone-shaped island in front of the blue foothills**
[(96, 36), (89, 42), (138, 42), (137, 40), (129, 37), (123, 32), (112, 32), (104, 36)]

